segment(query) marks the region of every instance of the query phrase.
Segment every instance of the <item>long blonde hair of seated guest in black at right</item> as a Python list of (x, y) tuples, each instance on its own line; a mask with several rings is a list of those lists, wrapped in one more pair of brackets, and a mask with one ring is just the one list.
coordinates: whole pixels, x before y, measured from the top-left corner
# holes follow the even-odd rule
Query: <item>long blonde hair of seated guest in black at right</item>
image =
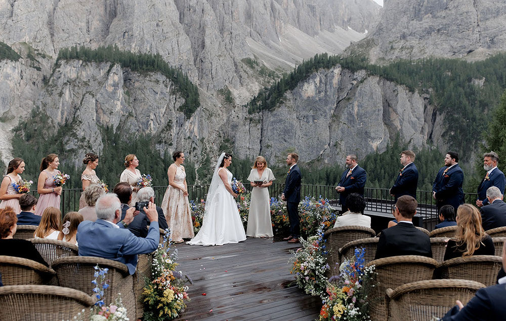
[(462, 256), (471, 256), (480, 248), (481, 240), (487, 234), (481, 226), (481, 215), (471, 204), (462, 204), (457, 208), (457, 231), (455, 237), (457, 246), (466, 245)]

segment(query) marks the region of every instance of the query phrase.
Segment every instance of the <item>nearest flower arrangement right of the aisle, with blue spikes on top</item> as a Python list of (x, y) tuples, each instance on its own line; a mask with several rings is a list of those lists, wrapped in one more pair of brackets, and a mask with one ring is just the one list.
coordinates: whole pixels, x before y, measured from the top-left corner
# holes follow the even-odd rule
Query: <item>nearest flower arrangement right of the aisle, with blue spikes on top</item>
[(364, 248), (355, 248), (355, 255), (341, 265), (339, 276), (331, 277), (323, 300), (320, 321), (370, 321), (369, 290), (375, 286), (374, 266), (365, 267)]

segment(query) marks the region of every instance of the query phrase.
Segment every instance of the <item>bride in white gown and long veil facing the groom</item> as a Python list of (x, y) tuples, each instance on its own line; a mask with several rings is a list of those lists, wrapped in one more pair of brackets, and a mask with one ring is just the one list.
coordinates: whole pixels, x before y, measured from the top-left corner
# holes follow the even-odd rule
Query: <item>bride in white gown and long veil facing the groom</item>
[(207, 192), (202, 227), (197, 235), (186, 242), (190, 245), (223, 245), (238, 243), (246, 239), (232, 190), (232, 173), (227, 167), (232, 164), (232, 155), (222, 153), (216, 164), (213, 179)]

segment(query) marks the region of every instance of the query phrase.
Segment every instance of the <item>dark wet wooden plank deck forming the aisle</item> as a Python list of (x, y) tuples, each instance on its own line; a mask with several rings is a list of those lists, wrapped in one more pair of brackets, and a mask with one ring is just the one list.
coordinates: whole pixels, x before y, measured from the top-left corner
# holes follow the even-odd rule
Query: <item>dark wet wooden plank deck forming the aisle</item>
[(223, 246), (177, 244), (178, 271), (193, 280), (191, 301), (178, 320), (314, 320), (321, 300), (304, 294), (290, 274), (289, 250), (298, 245), (272, 238)]

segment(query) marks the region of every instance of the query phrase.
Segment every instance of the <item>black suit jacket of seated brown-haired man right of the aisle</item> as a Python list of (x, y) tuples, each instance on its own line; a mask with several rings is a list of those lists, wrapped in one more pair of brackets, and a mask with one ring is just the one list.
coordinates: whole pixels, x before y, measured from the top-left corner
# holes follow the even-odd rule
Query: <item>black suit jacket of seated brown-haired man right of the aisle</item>
[(381, 231), (374, 259), (399, 255), (432, 257), (431, 239), (413, 224), (404, 222)]

